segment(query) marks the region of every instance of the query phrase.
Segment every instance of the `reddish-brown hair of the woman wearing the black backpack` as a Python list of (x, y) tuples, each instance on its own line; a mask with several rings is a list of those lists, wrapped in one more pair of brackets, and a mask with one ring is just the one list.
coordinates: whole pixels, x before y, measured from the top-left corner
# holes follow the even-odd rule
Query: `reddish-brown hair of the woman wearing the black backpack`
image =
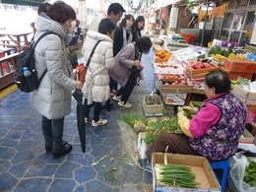
[(56, 1), (50, 6), (46, 15), (60, 24), (64, 24), (68, 20), (76, 20), (77, 18), (74, 9), (63, 1)]

